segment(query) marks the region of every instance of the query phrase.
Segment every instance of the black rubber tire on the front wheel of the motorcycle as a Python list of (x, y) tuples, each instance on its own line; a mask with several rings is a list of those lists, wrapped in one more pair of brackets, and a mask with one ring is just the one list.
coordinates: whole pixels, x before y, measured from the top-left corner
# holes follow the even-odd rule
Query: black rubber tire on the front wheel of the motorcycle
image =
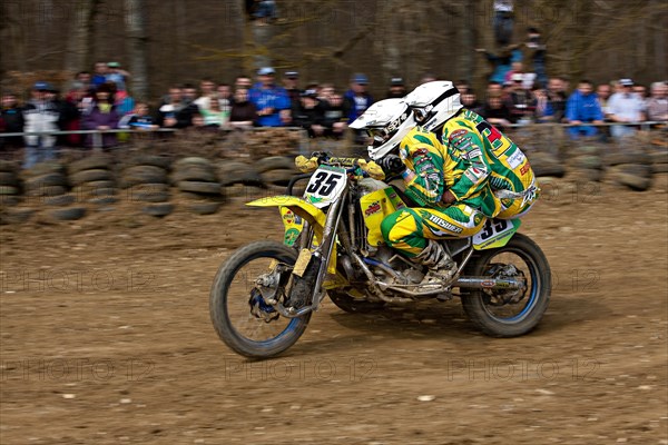
[[(220, 337), (229, 348), (246, 357), (268, 358), (285, 352), (299, 339), (302, 334), (304, 334), (304, 330), (306, 330), (312, 314), (308, 313), (302, 317), (292, 318), (289, 322), (284, 318), (278, 318), (275, 322), (267, 323), (266, 325), (269, 326), (273, 323), (285, 320), (287, 322), (287, 326), (278, 334), (266, 339), (252, 339), (237, 330), (229, 314), (228, 306), (232, 296), (228, 294), (235, 278), (237, 278), (237, 273), (254, 259), (276, 259), (292, 266), (297, 259), (297, 251), (281, 243), (271, 240), (255, 241), (236, 250), (220, 266), (216, 274), (209, 296), (209, 313), (218, 337)], [(242, 276), (244, 274), (242, 274)], [(243, 288), (245, 289), (245, 287)], [(248, 305), (247, 298), (249, 297), (249, 294), (250, 293), (248, 291), (248, 295), (242, 295), (240, 301), (235, 300), (232, 301), (232, 304), (238, 303), (243, 308), (244, 304)], [(248, 317), (252, 316), (248, 314), (246, 318)], [(262, 319), (253, 319), (253, 322), (265, 324)]]

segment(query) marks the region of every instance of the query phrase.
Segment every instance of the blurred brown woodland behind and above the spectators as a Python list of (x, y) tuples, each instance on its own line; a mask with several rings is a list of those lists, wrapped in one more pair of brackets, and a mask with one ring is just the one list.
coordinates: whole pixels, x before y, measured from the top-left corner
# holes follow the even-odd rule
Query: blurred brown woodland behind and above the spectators
[[(232, 82), (262, 65), (296, 69), (347, 88), (370, 77), (379, 97), (392, 76), (409, 87), (432, 72), (482, 87), (494, 52), (492, 0), (277, 0), (279, 20), (247, 20), (243, 0), (3, 0), (0, 85), (27, 88), (35, 76), (60, 87), (95, 61), (132, 73), (136, 97), (203, 77)], [(542, 31), (550, 76), (596, 82), (667, 76), (668, 1), (517, 0), (514, 42)], [(48, 72), (45, 72), (48, 71)], [(26, 81), (26, 85), (21, 85)]]

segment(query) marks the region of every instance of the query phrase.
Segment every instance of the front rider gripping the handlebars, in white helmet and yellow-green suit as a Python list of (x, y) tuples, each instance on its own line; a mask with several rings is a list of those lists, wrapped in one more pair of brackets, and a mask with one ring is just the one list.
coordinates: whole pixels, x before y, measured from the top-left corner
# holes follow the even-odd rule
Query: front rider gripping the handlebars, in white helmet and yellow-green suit
[[(455, 89), (450, 97), (459, 106), (444, 119), (461, 109)], [(415, 112), (403, 99), (374, 103), (351, 127), (367, 131), (372, 138), (371, 159), (387, 172), (401, 174), (405, 194), (420, 206), (383, 219), (385, 243), (429, 268), (422, 284), (452, 281), (456, 265), (436, 240), (470, 237), (482, 228), (487, 217), (501, 210), (489, 182), (477, 174), (488, 168), (487, 161), (483, 157), (462, 156), (465, 140), (443, 146), (434, 132), (416, 127)]]

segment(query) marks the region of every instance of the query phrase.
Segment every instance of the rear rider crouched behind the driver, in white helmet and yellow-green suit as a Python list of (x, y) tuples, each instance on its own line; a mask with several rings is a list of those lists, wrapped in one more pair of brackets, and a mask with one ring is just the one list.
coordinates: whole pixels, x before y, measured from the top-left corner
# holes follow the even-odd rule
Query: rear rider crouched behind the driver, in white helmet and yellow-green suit
[(404, 100), (416, 112), (421, 126), (439, 135), (441, 141), (482, 168), (471, 169), (474, 181), (489, 178), (501, 200), (497, 218), (514, 219), (525, 215), (538, 198), (533, 170), (522, 150), (475, 112), (462, 108), (450, 81), (421, 85)]

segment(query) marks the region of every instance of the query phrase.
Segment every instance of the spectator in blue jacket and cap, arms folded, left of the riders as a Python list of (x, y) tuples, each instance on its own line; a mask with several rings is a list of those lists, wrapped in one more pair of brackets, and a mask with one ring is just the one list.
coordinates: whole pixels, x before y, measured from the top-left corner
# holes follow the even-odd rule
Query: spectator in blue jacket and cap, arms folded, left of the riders
[(291, 122), (291, 101), (287, 91), (275, 83), (274, 68), (257, 71), (259, 82), (248, 91), (248, 100), (257, 108), (257, 125), (281, 127)]

